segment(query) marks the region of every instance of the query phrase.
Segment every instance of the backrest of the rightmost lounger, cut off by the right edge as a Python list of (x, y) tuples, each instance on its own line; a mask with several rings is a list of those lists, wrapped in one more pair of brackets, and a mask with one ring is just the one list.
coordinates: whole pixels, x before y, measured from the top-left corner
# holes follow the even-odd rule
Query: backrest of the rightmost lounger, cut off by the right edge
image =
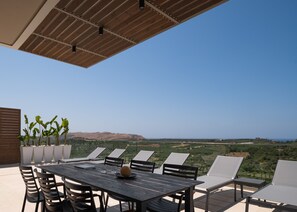
[(297, 161), (279, 160), (272, 184), (297, 187)]

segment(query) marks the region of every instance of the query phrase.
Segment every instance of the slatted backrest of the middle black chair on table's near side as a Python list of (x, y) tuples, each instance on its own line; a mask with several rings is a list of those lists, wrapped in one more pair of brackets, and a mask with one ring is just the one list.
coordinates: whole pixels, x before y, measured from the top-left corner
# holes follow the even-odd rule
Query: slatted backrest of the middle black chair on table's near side
[(34, 169), (39, 181), (41, 191), (45, 199), (45, 208), (47, 211), (63, 211), (63, 204), (57, 188), (55, 175), (38, 172)]

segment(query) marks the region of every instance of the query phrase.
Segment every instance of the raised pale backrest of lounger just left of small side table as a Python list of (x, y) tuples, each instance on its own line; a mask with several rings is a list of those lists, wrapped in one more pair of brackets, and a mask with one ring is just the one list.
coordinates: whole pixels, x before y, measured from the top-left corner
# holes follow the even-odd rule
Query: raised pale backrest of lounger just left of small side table
[(234, 179), (242, 163), (243, 157), (218, 155), (211, 165), (207, 175)]

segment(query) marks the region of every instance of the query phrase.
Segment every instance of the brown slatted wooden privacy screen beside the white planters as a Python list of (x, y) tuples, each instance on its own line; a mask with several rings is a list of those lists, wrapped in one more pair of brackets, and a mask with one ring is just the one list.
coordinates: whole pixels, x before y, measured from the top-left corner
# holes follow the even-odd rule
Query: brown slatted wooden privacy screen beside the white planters
[(0, 164), (20, 162), (21, 110), (0, 107)]

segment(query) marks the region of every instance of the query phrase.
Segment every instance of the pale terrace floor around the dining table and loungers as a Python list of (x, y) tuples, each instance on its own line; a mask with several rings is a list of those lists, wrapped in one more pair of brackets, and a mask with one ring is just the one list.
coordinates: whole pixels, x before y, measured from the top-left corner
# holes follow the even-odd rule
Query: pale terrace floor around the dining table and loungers
[[(0, 211), (21, 211), (24, 192), (25, 185), (19, 173), (18, 166), (0, 166)], [(233, 185), (230, 185), (223, 187), (220, 192), (212, 194), (210, 197), (209, 211), (244, 211), (245, 199), (239, 199), (237, 202), (234, 202), (233, 192)], [(244, 194), (247, 195), (251, 192), (251, 190), (245, 190)], [(237, 190), (237, 197), (240, 197), (239, 190)], [(205, 196), (196, 192), (194, 195), (195, 212), (204, 211), (204, 203)], [(34, 209), (35, 204), (29, 202), (26, 203), (26, 212), (34, 211)], [(119, 211), (118, 201), (112, 200), (110, 198), (109, 208), (107, 211)], [(250, 211), (266, 212), (275, 210), (271, 208), (262, 208), (256, 205), (250, 205)]]

